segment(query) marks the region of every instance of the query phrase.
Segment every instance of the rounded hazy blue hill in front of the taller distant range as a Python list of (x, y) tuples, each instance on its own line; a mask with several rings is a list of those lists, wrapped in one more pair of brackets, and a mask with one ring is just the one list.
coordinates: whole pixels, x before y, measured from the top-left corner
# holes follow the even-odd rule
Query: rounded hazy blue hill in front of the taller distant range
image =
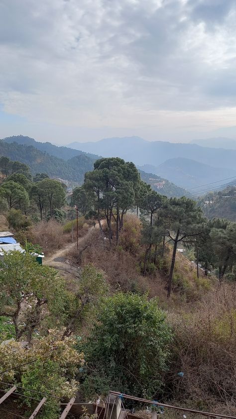
[(166, 160), (157, 167), (144, 165), (140, 169), (151, 171), (163, 178), (167, 178), (183, 188), (194, 188), (199, 185), (236, 176), (236, 170), (216, 168), (181, 157)]

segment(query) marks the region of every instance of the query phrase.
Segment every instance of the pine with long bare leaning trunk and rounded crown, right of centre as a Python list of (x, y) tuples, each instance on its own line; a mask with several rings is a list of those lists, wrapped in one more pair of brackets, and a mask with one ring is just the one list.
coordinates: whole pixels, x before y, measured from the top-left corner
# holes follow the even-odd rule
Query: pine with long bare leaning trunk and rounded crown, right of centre
[(166, 220), (165, 236), (173, 243), (167, 296), (171, 294), (177, 246), (191, 242), (203, 233), (205, 219), (197, 203), (185, 197), (170, 198), (163, 206), (162, 217)]

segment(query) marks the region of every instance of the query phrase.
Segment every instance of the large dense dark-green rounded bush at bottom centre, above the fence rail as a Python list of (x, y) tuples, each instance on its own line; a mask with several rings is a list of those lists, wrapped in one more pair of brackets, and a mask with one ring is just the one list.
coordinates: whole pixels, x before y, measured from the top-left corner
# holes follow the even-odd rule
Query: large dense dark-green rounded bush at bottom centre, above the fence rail
[[(162, 387), (171, 339), (165, 314), (155, 299), (122, 293), (108, 298), (85, 345), (85, 393), (90, 397), (98, 391), (104, 394), (109, 385), (127, 394), (151, 397)], [(97, 380), (101, 374), (107, 382)]]

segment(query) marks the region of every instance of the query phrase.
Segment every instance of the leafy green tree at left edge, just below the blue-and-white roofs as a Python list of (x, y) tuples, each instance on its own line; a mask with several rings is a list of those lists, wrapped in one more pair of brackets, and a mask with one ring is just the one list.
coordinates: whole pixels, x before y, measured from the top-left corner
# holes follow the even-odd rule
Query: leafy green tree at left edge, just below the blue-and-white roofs
[(39, 265), (29, 253), (5, 253), (0, 260), (0, 315), (11, 317), (15, 338), (28, 341), (35, 327), (62, 321), (65, 283), (56, 270)]

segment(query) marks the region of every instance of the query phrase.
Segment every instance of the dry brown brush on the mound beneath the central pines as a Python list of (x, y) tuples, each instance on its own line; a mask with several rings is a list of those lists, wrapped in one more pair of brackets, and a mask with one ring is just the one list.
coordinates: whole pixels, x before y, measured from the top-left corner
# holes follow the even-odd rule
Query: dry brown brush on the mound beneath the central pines
[[(104, 231), (106, 234), (105, 225)], [(126, 215), (117, 247), (110, 249), (108, 239), (101, 235), (98, 229), (92, 229), (79, 243), (78, 251), (73, 248), (67, 252), (67, 258), (82, 266), (88, 262), (94, 263), (98, 269), (106, 273), (113, 289), (148, 292), (150, 297), (158, 296), (160, 304), (166, 308), (170, 248), (166, 248), (164, 258), (157, 257), (156, 266), (151, 264), (148, 275), (144, 277), (141, 275), (141, 265), (145, 249), (140, 239), (140, 220), (134, 215)], [(177, 254), (173, 277), (174, 293), (168, 301), (168, 307), (182, 307), (188, 303), (192, 305), (193, 301), (201, 299), (202, 295), (212, 288), (213, 283), (214, 278), (206, 278), (202, 272), (197, 278), (196, 266), (182, 254)]]

